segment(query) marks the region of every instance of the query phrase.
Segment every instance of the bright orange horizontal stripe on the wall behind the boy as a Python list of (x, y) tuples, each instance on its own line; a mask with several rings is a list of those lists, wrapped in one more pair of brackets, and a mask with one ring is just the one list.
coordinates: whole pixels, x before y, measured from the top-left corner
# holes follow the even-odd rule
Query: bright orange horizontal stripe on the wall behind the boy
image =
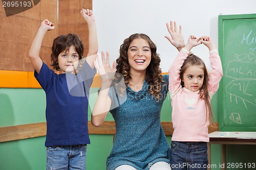
[[(101, 79), (97, 73), (92, 87), (100, 87), (100, 85)], [(35, 79), (33, 71), (0, 70), (0, 88), (41, 88), (41, 86)]]

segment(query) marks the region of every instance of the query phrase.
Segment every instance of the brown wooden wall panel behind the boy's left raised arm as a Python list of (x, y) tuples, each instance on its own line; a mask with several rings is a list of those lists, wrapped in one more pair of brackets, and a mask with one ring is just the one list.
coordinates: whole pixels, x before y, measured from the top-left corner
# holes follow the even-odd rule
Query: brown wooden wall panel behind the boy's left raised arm
[(57, 0), (40, 1), (27, 11), (8, 17), (1, 1), (0, 50), (5, 53), (0, 54), (0, 70), (34, 70), (28, 57), (29, 49), (40, 23), (46, 18), (56, 24), (55, 29), (46, 34), (40, 51), (40, 55), (44, 55), (40, 56), (43, 61), (50, 64), (50, 49), (58, 32)]

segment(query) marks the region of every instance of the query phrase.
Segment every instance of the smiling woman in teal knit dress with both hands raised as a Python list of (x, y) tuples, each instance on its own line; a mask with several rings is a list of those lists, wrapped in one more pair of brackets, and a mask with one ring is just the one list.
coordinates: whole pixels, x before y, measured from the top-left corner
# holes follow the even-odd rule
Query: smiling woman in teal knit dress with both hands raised
[[(172, 22), (170, 25), (173, 27)], [(178, 49), (184, 46), (181, 32), (172, 32), (171, 36), (173, 39), (170, 40)], [(147, 35), (133, 34), (120, 46), (117, 71), (115, 62), (111, 69), (108, 53), (106, 63), (103, 53), (102, 61), (98, 58), (95, 63), (102, 84), (92, 111), (92, 124), (100, 126), (109, 111), (116, 123), (113, 149), (106, 160), (108, 170), (171, 169), (170, 148), (160, 122), (161, 107), (168, 91), (168, 75), (161, 75), (156, 50), (155, 43)], [(120, 75), (124, 83), (116, 86)], [(116, 88), (122, 91), (120, 95)], [(113, 107), (116, 103), (117, 107)]]

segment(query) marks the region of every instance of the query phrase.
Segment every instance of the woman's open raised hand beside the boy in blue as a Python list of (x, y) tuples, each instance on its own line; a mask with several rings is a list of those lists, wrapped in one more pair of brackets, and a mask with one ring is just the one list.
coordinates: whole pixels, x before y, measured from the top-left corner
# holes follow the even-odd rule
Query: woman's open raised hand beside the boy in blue
[(101, 56), (102, 57), (100, 58), (100, 56), (97, 55), (97, 62), (94, 61), (94, 65), (99, 72), (101, 83), (110, 87), (116, 73), (116, 61), (114, 61), (113, 67), (111, 68), (109, 52), (106, 52), (106, 61), (104, 52), (101, 52)]

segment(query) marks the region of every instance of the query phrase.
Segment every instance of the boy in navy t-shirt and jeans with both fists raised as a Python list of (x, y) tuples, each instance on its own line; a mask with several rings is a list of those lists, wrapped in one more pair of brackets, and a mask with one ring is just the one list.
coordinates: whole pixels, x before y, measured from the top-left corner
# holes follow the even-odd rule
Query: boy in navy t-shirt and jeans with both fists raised
[[(82, 9), (80, 12), (89, 27), (89, 52), (81, 71), (76, 74), (75, 69), (78, 60), (84, 58), (84, 46), (75, 34), (60, 35), (53, 41), (52, 66), (59, 75), (42, 62), (39, 57), (42, 39), (47, 31), (54, 29), (54, 23), (47, 19), (41, 22), (29, 51), (35, 78), (46, 92), (46, 169), (86, 169), (87, 144), (90, 143), (88, 92), (96, 74), (93, 61), (98, 41), (92, 10)], [(73, 83), (71, 79), (79, 81)]]

